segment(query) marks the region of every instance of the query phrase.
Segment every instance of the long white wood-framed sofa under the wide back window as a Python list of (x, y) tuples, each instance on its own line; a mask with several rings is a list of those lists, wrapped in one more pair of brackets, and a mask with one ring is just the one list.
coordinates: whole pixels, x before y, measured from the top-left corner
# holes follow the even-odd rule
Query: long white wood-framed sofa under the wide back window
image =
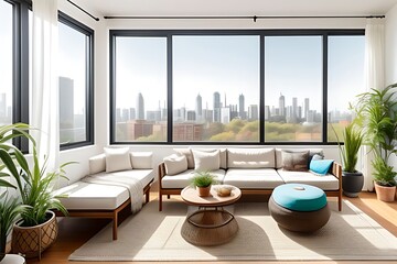
[[(339, 210), (342, 210), (341, 165), (324, 161), (330, 162), (331, 167), (323, 175), (309, 169), (315, 154), (314, 160), (319, 156), (323, 158), (321, 148), (230, 147), (174, 151), (175, 154), (165, 157), (158, 167), (160, 211), (163, 195), (170, 197), (181, 194), (181, 190), (191, 184), (195, 170), (212, 170), (221, 184), (236, 186), (242, 189), (243, 195), (270, 195), (277, 186), (287, 183), (316, 186), (328, 196), (337, 197)], [(293, 164), (293, 158), (297, 164)]]

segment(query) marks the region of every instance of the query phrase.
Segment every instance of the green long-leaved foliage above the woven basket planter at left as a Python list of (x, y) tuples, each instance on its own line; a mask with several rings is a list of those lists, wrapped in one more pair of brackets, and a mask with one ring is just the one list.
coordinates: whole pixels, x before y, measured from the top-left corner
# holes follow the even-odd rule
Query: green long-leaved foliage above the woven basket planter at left
[[(8, 132), (7, 132), (8, 130)], [(65, 163), (55, 172), (46, 172), (46, 162), (40, 166), (39, 156), (35, 147), (34, 139), (26, 132), (29, 125), (14, 124), (2, 128), (0, 135), (0, 160), (1, 176), (12, 176), (17, 182), (17, 189), (20, 195), (22, 205), (25, 210), (21, 213), (22, 226), (33, 227), (45, 222), (47, 219), (47, 210), (57, 209), (67, 215), (66, 208), (53, 194), (53, 184), (55, 179), (65, 177), (64, 167), (71, 163)], [(32, 165), (29, 166), (26, 157), (23, 153), (9, 143), (9, 140), (15, 136), (26, 138), (32, 144)], [(14, 187), (2, 182), (3, 185)]]

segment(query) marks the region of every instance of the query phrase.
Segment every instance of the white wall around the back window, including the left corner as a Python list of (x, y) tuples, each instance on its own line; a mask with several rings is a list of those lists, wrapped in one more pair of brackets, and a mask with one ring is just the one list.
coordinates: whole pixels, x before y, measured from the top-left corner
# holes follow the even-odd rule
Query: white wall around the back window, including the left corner
[[(78, 161), (67, 169), (71, 180), (88, 173), (88, 157), (101, 153), (109, 144), (109, 29), (122, 30), (171, 30), (171, 29), (364, 29), (365, 19), (310, 19), (310, 20), (100, 20), (97, 22), (73, 7), (66, 0), (60, 0), (60, 10), (95, 30), (95, 145), (77, 150), (63, 151), (64, 162)], [(89, 11), (89, 10), (87, 10)], [(225, 145), (222, 145), (225, 146)], [(173, 153), (174, 147), (164, 145), (130, 145), (133, 151), (152, 151), (153, 164)], [(205, 146), (202, 146), (205, 147)], [(216, 146), (207, 146), (216, 147)], [(250, 146), (248, 146), (250, 147)], [(253, 146), (254, 147), (254, 146)], [(289, 146), (283, 146), (289, 147)], [(290, 146), (294, 147), (294, 146)], [(314, 146), (324, 148), (328, 158), (339, 161), (336, 146)], [(73, 167), (73, 168), (72, 168)]]

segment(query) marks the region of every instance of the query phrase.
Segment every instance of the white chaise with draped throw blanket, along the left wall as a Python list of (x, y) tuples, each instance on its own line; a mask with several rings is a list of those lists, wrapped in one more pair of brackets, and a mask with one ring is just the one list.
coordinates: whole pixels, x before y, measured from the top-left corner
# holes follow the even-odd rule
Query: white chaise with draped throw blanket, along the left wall
[[(154, 179), (151, 152), (111, 148), (89, 158), (89, 175), (55, 191), (69, 217), (112, 219), (117, 240), (118, 213), (126, 207), (138, 211), (149, 201)], [(127, 210), (127, 209), (126, 209)], [(57, 216), (63, 216), (56, 212)]]

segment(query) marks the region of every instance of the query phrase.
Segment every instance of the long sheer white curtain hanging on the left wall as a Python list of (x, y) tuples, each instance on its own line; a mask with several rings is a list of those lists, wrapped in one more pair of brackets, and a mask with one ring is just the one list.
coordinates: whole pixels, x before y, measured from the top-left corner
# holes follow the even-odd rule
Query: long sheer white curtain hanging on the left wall
[(33, 0), (32, 135), (37, 143), (41, 164), (58, 167), (58, 82), (57, 82), (57, 0)]

